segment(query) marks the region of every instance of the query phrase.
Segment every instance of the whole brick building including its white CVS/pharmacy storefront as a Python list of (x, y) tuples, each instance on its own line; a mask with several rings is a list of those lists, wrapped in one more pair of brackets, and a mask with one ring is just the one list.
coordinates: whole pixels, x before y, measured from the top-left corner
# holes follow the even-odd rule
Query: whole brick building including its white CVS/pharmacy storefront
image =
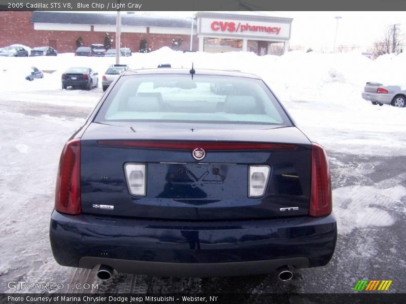
[[(289, 49), (291, 18), (267, 15), (198, 12), (193, 21), (194, 51), (283, 54)], [(103, 44), (106, 33), (115, 41), (115, 14), (61, 12), (0, 12), (0, 47), (23, 44), (51, 46), (59, 53), (75, 52), (76, 40), (84, 46)], [(148, 16), (128, 12), (121, 18), (121, 47), (138, 52), (141, 40), (151, 50), (172, 47), (190, 50), (191, 18)], [(113, 47), (115, 43), (113, 42)]]

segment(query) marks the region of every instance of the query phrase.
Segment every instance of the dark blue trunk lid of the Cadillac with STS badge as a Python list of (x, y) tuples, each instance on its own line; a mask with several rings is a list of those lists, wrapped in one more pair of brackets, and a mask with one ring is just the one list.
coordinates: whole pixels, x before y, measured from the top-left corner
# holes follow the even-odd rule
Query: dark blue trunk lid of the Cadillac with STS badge
[[(211, 148), (197, 161), (179, 142)], [(279, 146), (252, 148), (265, 143)], [(235, 144), (247, 146), (232, 148)], [(134, 163), (146, 166), (144, 197), (129, 193), (125, 165)], [(270, 168), (263, 197), (248, 197), (250, 165)], [(81, 139), (85, 213), (188, 220), (303, 215), (309, 211), (310, 178), (311, 142), (295, 127), (92, 123)]]

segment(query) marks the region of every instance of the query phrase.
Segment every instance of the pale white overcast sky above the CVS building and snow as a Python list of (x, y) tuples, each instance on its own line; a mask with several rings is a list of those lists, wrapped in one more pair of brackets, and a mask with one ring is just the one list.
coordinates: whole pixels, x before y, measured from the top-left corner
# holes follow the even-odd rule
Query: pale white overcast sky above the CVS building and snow
[[(356, 1), (356, 0), (354, 0)], [(103, 13), (103, 12), (99, 12)], [(110, 12), (114, 13), (115, 12)], [(136, 12), (136, 14), (190, 17), (193, 12)], [(224, 12), (232, 13), (232, 12)], [(366, 51), (374, 41), (382, 37), (387, 26), (396, 26), (406, 33), (405, 12), (236, 12), (293, 18), (290, 45), (304, 50), (332, 50), (337, 19), (336, 47), (358, 46)], [(123, 12), (125, 14), (125, 12)], [(402, 24), (403, 22), (403, 24)], [(406, 42), (406, 41), (405, 41)]]

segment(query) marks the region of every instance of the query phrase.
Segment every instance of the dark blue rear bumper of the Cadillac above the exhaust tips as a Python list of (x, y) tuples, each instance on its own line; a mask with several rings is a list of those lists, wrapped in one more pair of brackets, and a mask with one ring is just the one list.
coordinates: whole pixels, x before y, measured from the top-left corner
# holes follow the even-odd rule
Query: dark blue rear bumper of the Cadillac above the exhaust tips
[(335, 248), (334, 216), (255, 221), (141, 220), (54, 211), (50, 241), (56, 261), (161, 276), (270, 273), (283, 265), (325, 265)]

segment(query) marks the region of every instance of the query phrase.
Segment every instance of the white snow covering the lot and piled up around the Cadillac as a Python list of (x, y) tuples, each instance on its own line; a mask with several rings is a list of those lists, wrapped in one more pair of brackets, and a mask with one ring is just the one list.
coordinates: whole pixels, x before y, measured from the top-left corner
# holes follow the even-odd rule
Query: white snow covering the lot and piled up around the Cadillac
[[(67, 137), (85, 119), (85, 116), (72, 119), (68, 109), (70, 113), (75, 109), (90, 111), (103, 94), (101, 75), (114, 60), (75, 57), (74, 54), (0, 57), (0, 235), (3, 245), (0, 248), (0, 281), (22, 278), (35, 282), (64, 282), (72, 276), (73, 270), (55, 263), (48, 241), (58, 158)], [(259, 57), (252, 53), (183, 53), (163, 48), (149, 54), (135, 53), (121, 60), (131, 68), (156, 67), (160, 63), (189, 68), (193, 62), (196, 69), (252, 72), (272, 88), (304, 133), (323, 144), (329, 153), (364, 158), (406, 154), (406, 108), (374, 106), (361, 98), (367, 81), (406, 85), (398, 68), (406, 64), (405, 53), (372, 61), (357, 52), (295, 51), (281, 57)], [(44, 79), (28, 82), (22, 71), (31, 66), (55, 72), (45, 73)], [(92, 67), (99, 73), (99, 88), (61, 90), (61, 73), (70, 66)], [(21, 104), (26, 106), (26, 111), (21, 110)], [(41, 115), (38, 111), (30, 113), (28, 108), (33, 105), (38, 108), (51, 105), (61, 110), (57, 116)], [(340, 235), (365, 227), (390, 226), (396, 221), (380, 205), (384, 202), (386, 206), (399, 207), (406, 196), (405, 185), (401, 182), (403, 175), (399, 175), (400, 179), (364, 184), (359, 177), (373, 173), (373, 167), (357, 170), (351, 166), (347, 168), (336, 159), (332, 162), (335, 167), (342, 167), (336, 169), (335, 176), (357, 176), (356, 184), (339, 183), (333, 192)], [(406, 213), (406, 208), (399, 210)], [(7, 290), (4, 286), (1, 285), (0, 291)]]

